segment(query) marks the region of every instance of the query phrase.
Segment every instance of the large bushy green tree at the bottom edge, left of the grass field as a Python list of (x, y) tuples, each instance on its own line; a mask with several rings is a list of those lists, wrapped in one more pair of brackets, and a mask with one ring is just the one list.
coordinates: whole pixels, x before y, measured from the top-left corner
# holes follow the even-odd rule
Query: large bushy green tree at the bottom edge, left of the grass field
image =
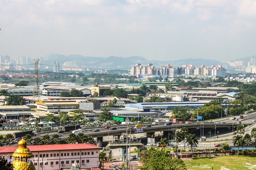
[[(145, 150), (138, 154), (140, 170), (184, 170), (186, 165), (181, 159), (173, 159), (172, 155), (164, 150)], [(156, 159), (157, 158), (157, 159)]]

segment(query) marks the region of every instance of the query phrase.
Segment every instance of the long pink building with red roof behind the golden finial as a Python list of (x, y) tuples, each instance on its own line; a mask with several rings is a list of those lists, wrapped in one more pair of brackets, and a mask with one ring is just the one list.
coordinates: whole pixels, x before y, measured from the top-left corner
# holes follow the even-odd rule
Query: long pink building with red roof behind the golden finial
[[(13, 162), (12, 155), (18, 146), (0, 147), (0, 157), (9, 159)], [(80, 168), (97, 167), (99, 161), (98, 146), (88, 143), (79, 144), (60, 144), (60, 145), (29, 145), (27, 148), (33, 154), (31, 161), (36, 170), (59, 170), (68, 168), (75, 161), (79, 163)]]

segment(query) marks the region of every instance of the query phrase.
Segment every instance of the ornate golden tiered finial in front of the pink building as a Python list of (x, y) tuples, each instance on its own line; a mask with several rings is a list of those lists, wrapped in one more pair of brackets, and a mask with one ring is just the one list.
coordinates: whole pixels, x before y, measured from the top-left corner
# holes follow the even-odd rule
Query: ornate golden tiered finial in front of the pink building
[(19, 147), (13, 153), (13, 170), (36, 170), (34, 164), (30, 159), (33, 157), (33, 154), (27, 148), (27, 142), (22, 138), (19, 143)]

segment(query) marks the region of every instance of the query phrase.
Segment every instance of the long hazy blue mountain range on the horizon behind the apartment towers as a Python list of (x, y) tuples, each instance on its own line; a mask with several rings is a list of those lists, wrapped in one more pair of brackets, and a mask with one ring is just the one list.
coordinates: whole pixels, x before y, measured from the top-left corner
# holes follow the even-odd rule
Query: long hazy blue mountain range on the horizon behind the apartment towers
[(61, 54), (53, 54), (49, 55), (49, 59), (46, 61), (40, 61), (40, 64), (53, 65), (54, 61), (59, 61), (60, 66), (63, 65), (65, 61), (76, 61), (77, 66), (80, 67), (99, 67), (99, 68), (119, 68), (119, 69), (130, 69), (131, 66), (136, 65), (137, 63), (141, 63), (142, 65), (147, 65), (152, 63), (156, 68), (159, 66), (164, 66), (166, 64), (170, 64), (172, 66), (182, 66), (183, 64), (193, 64), (194, 66), (201, 66), (204, 64), (205, 66), (218, 65), (223, 64), (220, 61), (211, 60), (211, 59), (179, 59), (179, 60), (147, 60), (140, 56), (132, 56), (132, 57), (88, 57), (82, 55), (61, 55)]

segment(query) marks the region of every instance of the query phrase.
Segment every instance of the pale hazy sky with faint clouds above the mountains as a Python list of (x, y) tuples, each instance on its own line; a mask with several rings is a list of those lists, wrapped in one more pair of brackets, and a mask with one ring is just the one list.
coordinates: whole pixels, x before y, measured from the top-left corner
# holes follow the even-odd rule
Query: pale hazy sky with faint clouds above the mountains
[(255, 0), (1, 0), (0, 55), (256, 55)]

